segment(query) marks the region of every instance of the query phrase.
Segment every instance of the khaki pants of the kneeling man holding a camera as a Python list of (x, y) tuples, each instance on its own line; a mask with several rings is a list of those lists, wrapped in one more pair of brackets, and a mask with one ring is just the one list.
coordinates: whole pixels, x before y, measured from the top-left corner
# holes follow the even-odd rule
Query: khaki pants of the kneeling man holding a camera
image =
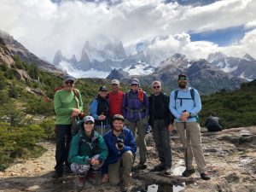
[(123, 180), (131, 179), (131, 166), (133, 162), (133, 154), (131, 151), (125, 151), (122, 158), (116, 163), (108, 165), (109, 183), (118, 185), (122, 175)]

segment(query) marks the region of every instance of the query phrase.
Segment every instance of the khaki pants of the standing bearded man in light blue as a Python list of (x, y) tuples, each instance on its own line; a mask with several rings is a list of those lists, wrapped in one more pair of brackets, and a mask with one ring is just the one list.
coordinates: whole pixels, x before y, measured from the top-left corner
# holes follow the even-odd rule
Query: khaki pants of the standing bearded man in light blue
[[(183, 143), (183, 148), (187, 147), (188, 168), (193, 168), (192, 161), (193, 157), (195, 156), (195, 163), (198, 168), (198, 172), (206, 172), (206, 161), (201, 148), (201, 127), (197, 122), (186, 123), (185, 133), (184, 125), (184, 123), (176, 123), (177, 131)], [(186, 157), (186, 155), (184, 156)]]

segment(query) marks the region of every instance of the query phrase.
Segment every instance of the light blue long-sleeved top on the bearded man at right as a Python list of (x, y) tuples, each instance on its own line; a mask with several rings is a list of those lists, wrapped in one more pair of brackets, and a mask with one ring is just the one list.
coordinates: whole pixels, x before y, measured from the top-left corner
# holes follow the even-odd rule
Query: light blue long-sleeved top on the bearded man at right
[[(178, 89), (177, 91), (177, 99), (175, 101), (175, 90), (172, 91), (170, 95), (170, 105), (169, 108), (172, 114), (176, 118), (176, 122), (181, 122), (179, 120), (181, 114), (184, 110), (191, 113), (192, 118), (187, 119), (186, 122), (195, 122), (197, 118), (195, 117), (197, 113), (201, 111), (201, 98), (197, 90), (195, 90), (195, 101), (193, 101), (190, 94), (191, 87), (188, 87), (186, 90)], [(185, 98), (180, 101), (178, 98)], [(182, 105), (181, 105), (182, 103)], [(194, 117), (193, 117), (194, 116)]]

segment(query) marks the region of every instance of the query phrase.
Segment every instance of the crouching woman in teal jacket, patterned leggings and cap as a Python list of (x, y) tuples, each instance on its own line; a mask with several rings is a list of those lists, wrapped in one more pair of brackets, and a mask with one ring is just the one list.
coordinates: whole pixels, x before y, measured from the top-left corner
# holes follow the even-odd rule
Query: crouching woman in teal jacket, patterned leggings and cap
[(84, 117), (79, 125), (79, 133), (73, 137), (68, 155), (71, 169), (78, 176), (79, 189), (84, 188), (87, 172), (90, 169), (101, 172), (103, 162), (108, 157), (108, 147), (103, 137), (94, 131), (94, 122), (92, 116)]

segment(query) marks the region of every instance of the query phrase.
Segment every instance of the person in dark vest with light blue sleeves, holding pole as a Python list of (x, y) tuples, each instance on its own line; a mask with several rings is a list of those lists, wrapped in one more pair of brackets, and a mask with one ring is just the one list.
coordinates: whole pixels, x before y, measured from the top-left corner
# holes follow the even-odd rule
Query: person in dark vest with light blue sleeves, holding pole
[(90, 103), (90, 113), (95, 119), (95, 130), (102, 134), (108, 132), (111, 127), (111, 121), (109, 118), (109, 103), (108, 103), (108, 88), (101, 86), (99, 88), (99, 94)]

